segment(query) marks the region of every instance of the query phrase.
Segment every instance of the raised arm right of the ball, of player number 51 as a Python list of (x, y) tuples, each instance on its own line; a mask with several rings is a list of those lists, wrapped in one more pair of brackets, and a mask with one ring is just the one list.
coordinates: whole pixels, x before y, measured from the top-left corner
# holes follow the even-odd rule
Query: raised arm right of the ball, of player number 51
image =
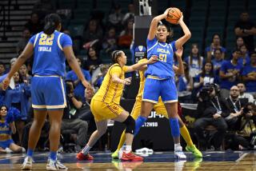
[(183, 21), (183, 15), (182, 17), (178, 20), (178, 24), (182, 27), (182, 30), (184, 32), (184, 35), (182, 38), (178, 38), (178, 40), (175, 42), (176, 49), (180, 49), (186, 41), (188, 41), (191, 37), (191, 33), (189, 28), (186, 26), (185, 22)]

